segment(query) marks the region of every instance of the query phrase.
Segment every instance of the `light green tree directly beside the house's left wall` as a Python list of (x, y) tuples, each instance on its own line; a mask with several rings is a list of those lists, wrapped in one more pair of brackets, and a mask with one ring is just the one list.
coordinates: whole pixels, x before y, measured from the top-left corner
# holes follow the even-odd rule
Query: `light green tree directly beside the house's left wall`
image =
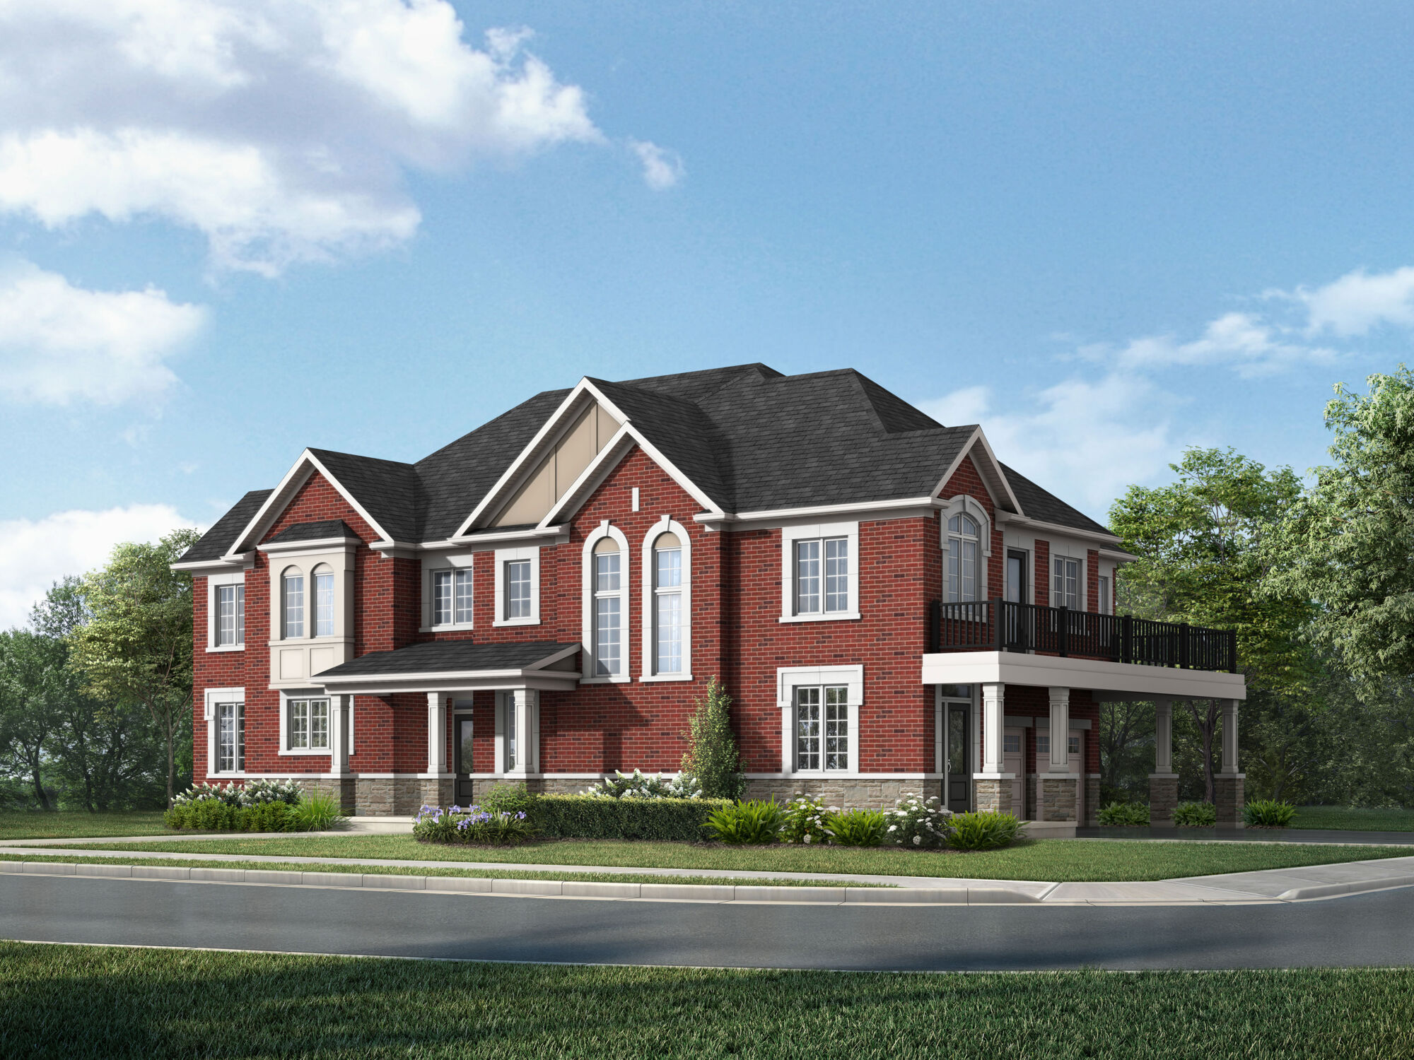
[(191, 575), (171, 570), (199, 537), (177, 530), (158, 544), (120, 544), (107, 567), (86, 575), (90, 618), (74, 635), (75, 660), (98, 697), (141, 707), (167, 748), (167, 806), (178, 742), (191, 724)]

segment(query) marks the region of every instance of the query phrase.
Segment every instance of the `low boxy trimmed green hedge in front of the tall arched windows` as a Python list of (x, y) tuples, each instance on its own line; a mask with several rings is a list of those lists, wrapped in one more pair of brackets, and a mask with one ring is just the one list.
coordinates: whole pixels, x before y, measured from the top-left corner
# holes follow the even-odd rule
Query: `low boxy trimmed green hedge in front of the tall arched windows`
[(714, 810), (730, 799), (600, 799), (536, 796), (530, 820), (540, 835), (561, 840), (663, 840), (701, 842)]

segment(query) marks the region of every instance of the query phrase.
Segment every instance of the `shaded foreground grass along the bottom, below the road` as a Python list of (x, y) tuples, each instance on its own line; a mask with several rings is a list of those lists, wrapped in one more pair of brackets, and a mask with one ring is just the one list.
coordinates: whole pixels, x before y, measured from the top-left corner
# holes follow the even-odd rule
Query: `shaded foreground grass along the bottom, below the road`
[(1414, 971), (929, 975), (0, 943), (0, 1054), (1410, 1056)]

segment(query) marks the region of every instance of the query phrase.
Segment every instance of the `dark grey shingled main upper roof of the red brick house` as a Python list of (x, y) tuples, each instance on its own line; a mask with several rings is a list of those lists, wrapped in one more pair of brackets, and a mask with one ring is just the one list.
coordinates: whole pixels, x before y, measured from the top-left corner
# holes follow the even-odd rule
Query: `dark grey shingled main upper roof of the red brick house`
[[(783, 376), (735, 365), (591, 383), (730, 513), (929, 496), (974, 431), (939, 424), (853, 369)], [(395, 541), (445, 540), (568, 393), (539, 393), (416, 464), (311, 452)], [(1109, 533), (1011, 468), (1004, 473), (1025, 514)], [(182, 558), (219, 557), (266, 496), (247, 493)]]

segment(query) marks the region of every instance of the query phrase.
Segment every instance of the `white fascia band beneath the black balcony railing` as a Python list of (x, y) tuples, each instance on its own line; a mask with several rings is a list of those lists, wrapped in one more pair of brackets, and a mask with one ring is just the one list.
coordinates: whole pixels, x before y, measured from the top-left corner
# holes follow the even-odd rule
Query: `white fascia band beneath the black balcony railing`
[(1089, 688), (1102, 700), (1178, 695), (1195, 700), (1246, 700), (1241, 674), (1110, 663), (1025, 652), (939, 652), (922, 660), (923, 684), (1027, 684)]

